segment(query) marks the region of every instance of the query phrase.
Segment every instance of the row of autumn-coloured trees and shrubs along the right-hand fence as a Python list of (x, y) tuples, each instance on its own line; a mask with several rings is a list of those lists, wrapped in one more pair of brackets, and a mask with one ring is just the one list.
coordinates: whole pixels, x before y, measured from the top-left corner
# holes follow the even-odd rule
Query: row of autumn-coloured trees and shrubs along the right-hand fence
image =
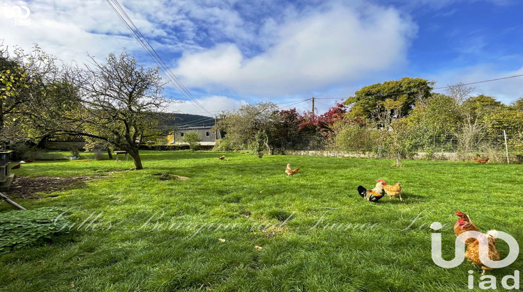
[[(318, 133), (326, 147), (348, 152), (376, 152), (401, 164), (417, 151), (432, 158), (442, 143), (457, 144), (469, 159), (478, 143), (503, 130), (511, 152), (523, 159), (523, 98), (505, 105), (494, 97), (472, 96), (462, 83), (446, 93), (433, 92), (434, 83), (404, 77), (365, 86), (326, 113), (278, 110), (268, 102), (247, 104), (224, 113), (216, 125), (227, 132), (218, 149), (250, 149), (259, 154), (292, 148), (299, 136)], [(438, 146), (438, 147), (437, 147)]]

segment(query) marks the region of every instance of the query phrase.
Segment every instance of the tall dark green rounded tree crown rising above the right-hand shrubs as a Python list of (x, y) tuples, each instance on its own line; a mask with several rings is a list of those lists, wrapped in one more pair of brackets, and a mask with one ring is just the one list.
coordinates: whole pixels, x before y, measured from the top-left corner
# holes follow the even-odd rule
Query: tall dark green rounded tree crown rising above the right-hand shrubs
[(430, 96), (433, 85), (434, 82), (425, 79), (404, 77), (365, 86), (343, 104), (351, 106), (352, 117), (363, 116), (377, 120), (380, 111), (385, 111), (386, 107), (399, 109), (397, 117), (404, 117), (414, 107), (416, 99)]

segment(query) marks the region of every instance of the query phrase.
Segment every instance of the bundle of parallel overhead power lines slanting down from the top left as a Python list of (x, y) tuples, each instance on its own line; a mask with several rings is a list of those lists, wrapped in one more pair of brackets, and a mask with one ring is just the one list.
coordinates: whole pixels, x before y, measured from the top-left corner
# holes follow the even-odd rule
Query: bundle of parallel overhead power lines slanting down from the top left
[[(136, 40), (138, 40), (139, 44), (142, 46), (142, 48), (145, 49), (147, 54), (151, 56), (151, 58), (155, 61), (155, 63), (160, 67), (160, 69), (166, 74), (167, 78), (174, 84), (176, 89), (181, 92), (185, 98), (188, 98), (188, 100), (194, 104), (197, 108), (204, 111), (205, 113), (211, 114), (209, 111), (207, 111), (202, 104), (200, 104), (195, 97), (192, 96), (192, 94), (189, 92), (185, 86), (183, 86), (183, 83), (172, 73), (172, 71), (169, 69), (169, 66), (165, 61), (160, 57), (158, 52), (153, 48), (151, 43), (145, 38), (145, 36), (142, 34), (142, 32), (138, 29), (138, 27), (135, 25), (134, 22), (132, 22), (132, 19), (129, 17), (129, 15), (126, 13), (126, 10), (123, 9), (123, 7), (120, 5), (118, 0), (112, 0), (114, 3), (111, 3), (110, 0), (106, 0), (107, 3), (109, 3), (109, 6), (114, 10), (116, 15), (121, 19), (123, 24), (127, 26), (129, 31), (132, 33), (132, 35), (135, 37)], [(127, 19), (127, 20), (126, 20)], [(129, 24), (130, 23), (130, 24)], [(132, 25), (132, 26), (131, 26)], [(133, 29), (134, 27), (134, 29)], [(163, 68), (163, 69), (162, 69)]]

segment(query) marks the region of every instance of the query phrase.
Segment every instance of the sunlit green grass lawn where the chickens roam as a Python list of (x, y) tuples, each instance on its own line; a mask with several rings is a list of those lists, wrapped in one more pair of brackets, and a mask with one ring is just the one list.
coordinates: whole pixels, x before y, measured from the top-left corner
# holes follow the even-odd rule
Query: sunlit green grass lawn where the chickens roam
[[(216, 158), (222, 154), (230, 160)], [(457, 209), (480, 231), (523, 243), (523, 165), (396, 168), (391, 160), (220, 152), (143, 152), (142, 160), (139, 171), (118, 171), (132, 161), (37, 161), (13, 170), (99, 178), (16, 200), (27, 209), (70, 209), (75, 226), (52, 243), (1, 255), (0, 291), (470, 291), (471, 269), (482, 291), (471, 263), (432, 262), (430, 223), (450, 225), (442, 231), (446, 259)], [(301, 170), (287, 177), (287, 163)], [(165, 172), (190, 179), (154, 176)], [(376, 179), (400, 181), (404, 202), (363, 200), (356, 187), (373, 188)], [(11, 210), (0, 203), (1, 212)], [(505, 257), (506, 244), (498, 248)], [(499, 288), (501, 277), (523, 271), (522, 259), (520, 252), (488, 272)]]

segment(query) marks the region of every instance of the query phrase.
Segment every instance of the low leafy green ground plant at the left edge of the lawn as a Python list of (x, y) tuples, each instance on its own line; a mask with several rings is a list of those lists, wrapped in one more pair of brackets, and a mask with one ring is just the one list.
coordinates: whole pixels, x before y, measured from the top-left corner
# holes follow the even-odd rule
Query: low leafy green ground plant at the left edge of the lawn
[(40, 208), (0, 213), (0, 253), (38, 245), (58, 234), (68, 232), (68, 219), (63, 211)]

